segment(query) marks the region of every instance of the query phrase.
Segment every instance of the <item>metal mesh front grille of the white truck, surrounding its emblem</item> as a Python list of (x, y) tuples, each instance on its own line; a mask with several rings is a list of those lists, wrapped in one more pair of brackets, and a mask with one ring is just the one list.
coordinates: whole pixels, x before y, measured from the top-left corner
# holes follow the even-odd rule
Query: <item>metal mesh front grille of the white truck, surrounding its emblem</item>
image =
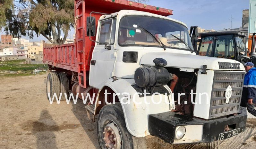
[[(243, 90), (244, 72), (215, 71), (209, 118), (234, 114), (238, 112)], [(232, 88), (232, 96), (226, 103), (225, 92)]]

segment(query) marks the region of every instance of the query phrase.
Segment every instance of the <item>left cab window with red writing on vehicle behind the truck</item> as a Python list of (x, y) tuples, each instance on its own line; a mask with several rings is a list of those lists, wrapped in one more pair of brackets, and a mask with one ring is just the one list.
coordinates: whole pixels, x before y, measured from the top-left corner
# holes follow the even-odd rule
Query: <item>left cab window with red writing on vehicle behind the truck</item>
[(201, 46), (199, 47), (198, 55), (211, 56), (213, 37), (204, 37), (201, 39)]

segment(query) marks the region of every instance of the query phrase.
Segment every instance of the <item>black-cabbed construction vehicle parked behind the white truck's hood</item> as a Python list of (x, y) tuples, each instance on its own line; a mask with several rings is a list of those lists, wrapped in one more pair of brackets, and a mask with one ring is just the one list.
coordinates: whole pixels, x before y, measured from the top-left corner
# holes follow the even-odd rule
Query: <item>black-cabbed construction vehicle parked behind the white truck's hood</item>
[[(254, 35), (247, 35), (239, 31), (197, 33), (197, 26), (190, 27), (191, 41), (197, 55), (216, 58), (234, 59), (241, 63), (253, 62), (256, 64)], [(197, 48), (197, 45), (199, 46)]]

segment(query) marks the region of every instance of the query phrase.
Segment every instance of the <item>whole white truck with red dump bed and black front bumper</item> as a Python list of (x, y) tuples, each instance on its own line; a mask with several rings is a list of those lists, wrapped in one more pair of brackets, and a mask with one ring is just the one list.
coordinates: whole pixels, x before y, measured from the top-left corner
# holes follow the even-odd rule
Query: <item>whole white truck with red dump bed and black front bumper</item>
[(145, 148), (149, 135), (184, 144), (245, 131), (243, 64), (196, 55), (187, 26), (166, 17), (172, 10), (126, 0), (75, 0), (74, 10), (75, 43), (44, 45), (47, 93), (92, 95), (85, 108), (101, 148)]

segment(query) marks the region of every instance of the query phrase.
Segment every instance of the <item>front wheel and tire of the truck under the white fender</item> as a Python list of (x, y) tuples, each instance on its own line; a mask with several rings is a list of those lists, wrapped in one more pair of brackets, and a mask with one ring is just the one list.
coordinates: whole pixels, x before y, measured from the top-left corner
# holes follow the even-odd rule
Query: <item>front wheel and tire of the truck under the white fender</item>
[[(114, 131), (114, 134), (111, 133), (113, 131)], [(98, 115), (98, 122), (97, 122), (97, 133), (98, 133), (99, 145), (102, 149), (103, 148), (104, 149), (106, 148), (133, 149), (133, 148), (137, 148), (137, 146), (141, 146), (141, 145), (138, 145), (139, 143), (143, 144), (143, 141), (138, 142), (138, 139), (132, 136), (128, 132), (125, 121), (124, 121), (123, 110), (120, 103), (106, 105), (100, 110)], [(112, 142), (113, 139), (111, 138), (113, 137), (111, 137), (111, 135), (113, 135), (113, 137), (116, 138), (114, 143)], [(145, 137), (143, 137), (142, 139), (144, 138)], [(107, 142), (112, 142), (112, 143), (107, 143)], [(145, 145), (146, 144), (143, 144), (142, 148), (145, 148), (146, 147)]]

